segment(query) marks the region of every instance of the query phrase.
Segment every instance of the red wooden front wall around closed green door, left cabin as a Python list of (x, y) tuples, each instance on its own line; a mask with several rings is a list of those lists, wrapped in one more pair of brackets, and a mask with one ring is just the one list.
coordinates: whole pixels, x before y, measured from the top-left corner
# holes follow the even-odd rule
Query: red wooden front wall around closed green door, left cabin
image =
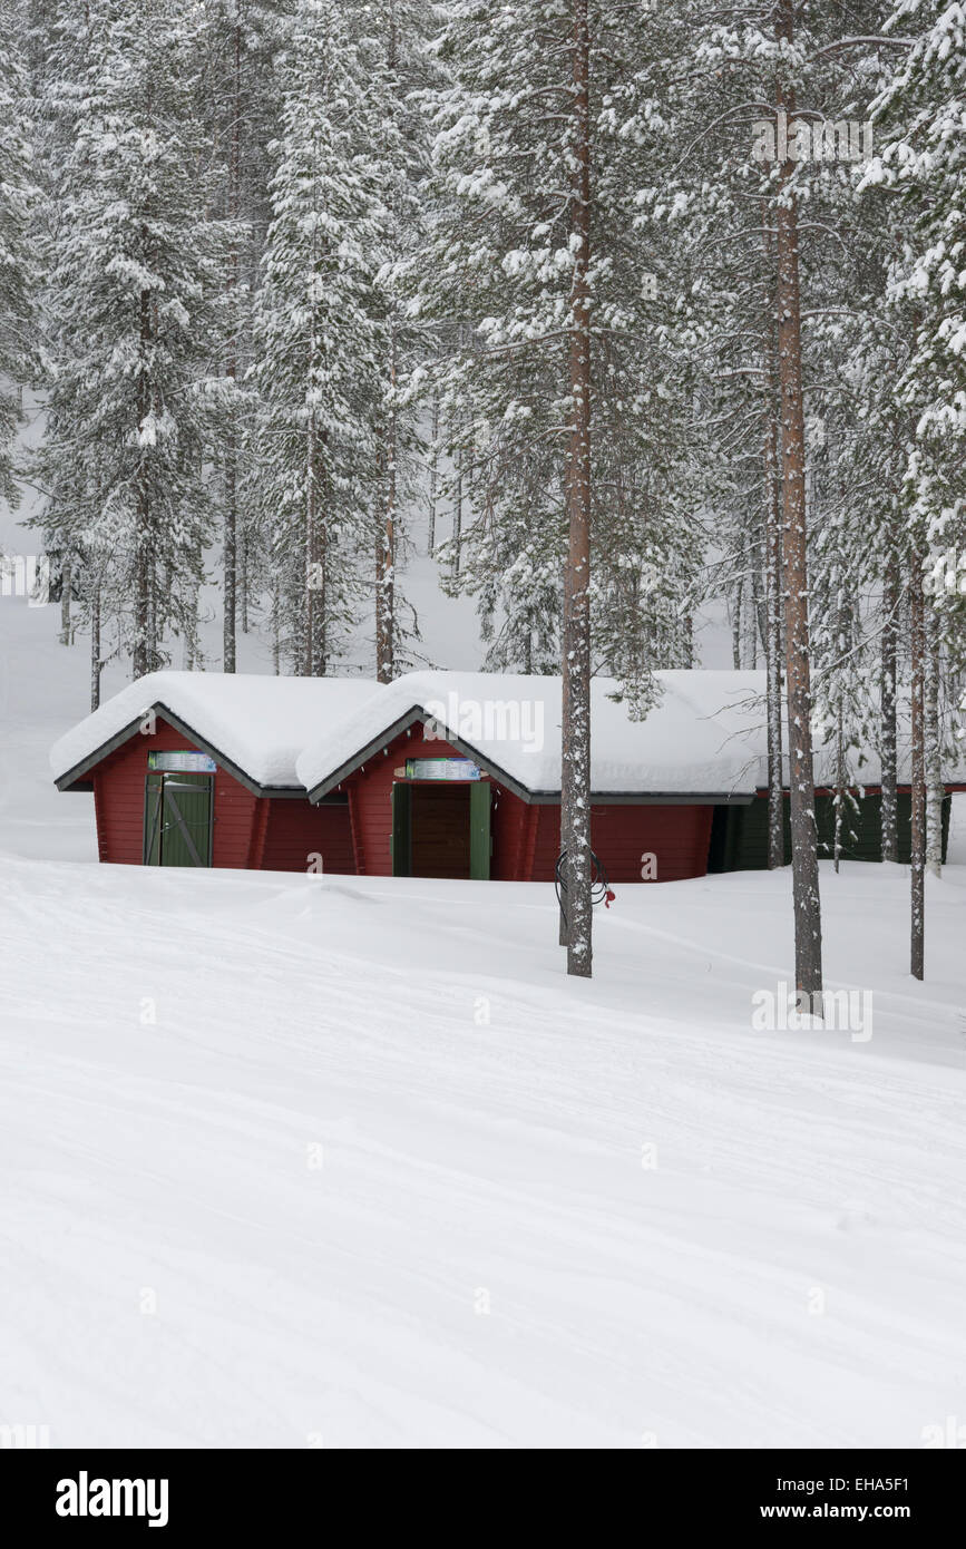
[[(158, 717), (152, 736), (132, 737), (102, 759), (93, 771), (98, 855), (102, 861), (121, 866), (142, 864), (147, 754), (170, 753), (186, 747), (190, 744), (184, 734)], [(255, 864), (252, 840), (259, 798), (223, 768), (218, 768), (214, 779), (212, 866)]]

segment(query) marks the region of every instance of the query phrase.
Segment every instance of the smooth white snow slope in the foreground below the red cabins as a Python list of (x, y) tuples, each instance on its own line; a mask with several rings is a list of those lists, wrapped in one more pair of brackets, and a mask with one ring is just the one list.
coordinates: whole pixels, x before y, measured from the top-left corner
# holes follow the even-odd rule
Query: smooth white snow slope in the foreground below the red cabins
[(876, 942), (865, 877), (824, 869), (830, 982), (887, 981), (853, 1044), (751, 1030), (786, 875), (622, 888), (568, 984), (550, 888), (9, 857), (0, 1419), (54, 1445), (921, 1444), (964, 1405), (937, 985), (966, 875), (930, 888), (918, 1013), (906, 883)]

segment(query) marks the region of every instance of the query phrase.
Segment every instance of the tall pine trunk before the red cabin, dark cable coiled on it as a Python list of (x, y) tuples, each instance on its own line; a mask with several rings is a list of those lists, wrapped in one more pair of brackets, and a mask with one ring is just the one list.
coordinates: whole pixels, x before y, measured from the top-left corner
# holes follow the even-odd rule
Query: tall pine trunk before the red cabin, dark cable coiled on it
[(574, 0), (570, 246), (574, 256), (570, 327), (571, 431), (567, 457), (568, 555), (564, 587), (564, 716), (560, 849), (567, 852), (567, 971), (593, 971), (590, 884), (590, 26), (588, 0)]

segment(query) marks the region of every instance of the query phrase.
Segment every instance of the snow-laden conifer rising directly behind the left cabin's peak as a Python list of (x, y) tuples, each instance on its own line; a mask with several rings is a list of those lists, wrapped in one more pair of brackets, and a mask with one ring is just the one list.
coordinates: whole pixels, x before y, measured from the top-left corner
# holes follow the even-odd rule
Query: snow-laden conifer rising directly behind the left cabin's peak
[[(200, 384), (215, 274), (194, 115), (190, 0), (63, 3), (46, 84), (68, 147), (43, 311), (53, 376), (42, 517), (110, 609), (135, 675), (164, 660), (206, 536)], [(101, 627), (101, 626), (99, 626)]]

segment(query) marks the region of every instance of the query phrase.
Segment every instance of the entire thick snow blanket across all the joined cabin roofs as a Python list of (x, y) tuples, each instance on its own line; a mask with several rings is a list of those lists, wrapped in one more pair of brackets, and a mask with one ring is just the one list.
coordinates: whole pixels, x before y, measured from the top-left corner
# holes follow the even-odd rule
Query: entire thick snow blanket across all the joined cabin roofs
[[(714, 796), (748, 801), (766, 784), (765, 674), (658, 672), (661, 694), (644, 720), (615, 699), (615, 678), (591, 685), (591, 790), (598, 796)], [(85, 773), (156, 708), (184, 736), (257, 790), (320, 798), (416, 722), (525, 796), (560, 790), (560, 678), (497, 672), (409, 672), (395, 683), (341, 677), (152, 672), (128, 685), (54, 745), (60, 787)], [(906, 717), (907, 719), (907, 717)], [(899, 720), (904, 725), (903, 713)], [(785, 734), (785, 728), (783, 728)], [(909, 784), (899, 728), (899, 784)], [(788, 751), (785, 737), (785, 779)], [(816, 736), (816, 784), (834, 781), (834, 747)], [(966, 745), (949, 784), (966, 784)], [(879, 782), (873, 750), (850, 778)]]

